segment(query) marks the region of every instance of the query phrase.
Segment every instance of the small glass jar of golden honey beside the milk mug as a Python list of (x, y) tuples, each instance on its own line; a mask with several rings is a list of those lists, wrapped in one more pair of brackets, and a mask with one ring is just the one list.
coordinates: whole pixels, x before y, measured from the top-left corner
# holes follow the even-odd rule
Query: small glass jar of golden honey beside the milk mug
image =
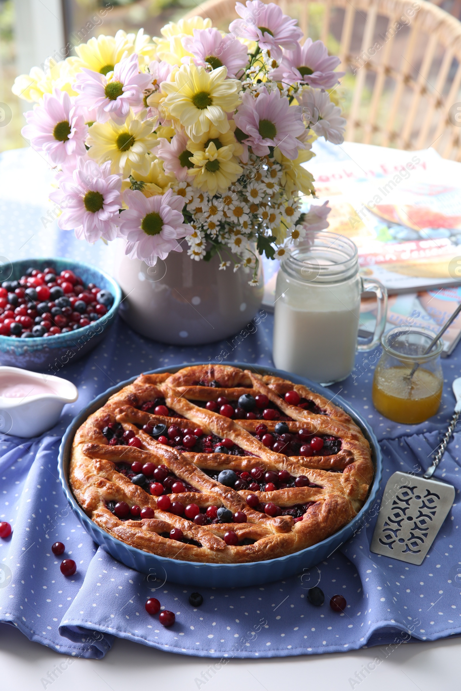
[(417, 424), (437, 413), (443, 388), (442, 339), (424, 354), (433, 337), (427, 329), (402, 326), (382, 337), (383, 352), (375, 369), (372, 397), (384, 417)]

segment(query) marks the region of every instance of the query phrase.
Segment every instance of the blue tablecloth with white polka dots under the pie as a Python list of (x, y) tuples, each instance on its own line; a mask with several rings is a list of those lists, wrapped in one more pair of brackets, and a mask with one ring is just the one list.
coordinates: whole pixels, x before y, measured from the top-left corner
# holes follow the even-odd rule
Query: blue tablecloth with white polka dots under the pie
[[(17, 179), (21, 166), (32, 165), (31, 156), (30, 151), (8, 152), (0, 159), (0, 223), (5, 226), (0, 229), (0, 254), (10, 258), (73, 256), (104, 267), (106, 248), (77, 243), (72, 234), (58, 231), (54, 222), (42, 223), (50, 207), (38, 193), (30, 205), (19, 205), (11, 180)], [(7, 176), (6, 170), (14, 169), (19, 173)], [(260, 319), (256, 332), (232, 350), (229, 361), (272, 365), (272, 317), (261, 312)], [(78, 387), (79, 399), (64, 408), (53, 430), (39, 439), (0, 436), (0, 520), (13, 527), (12, 535), (0, 540), (0, 621), (17, 627), (32, 641), (88, 658), (104, 656), (113, 636), (169, 652), (224, 659), (337, 652), (370, 645), (379, 645), (383, 656), (392, 645), (411, 638), (425, 641), (459, 634), (458, 433), (435, 473), (455, 486), (455, 503), (420, 567), (370, 553), (376, 511), (366, 516), (350, 542), (317, 567), (261, 587), (200, 589), (200, 607), (189, 605), (190, 588), (164, 582), (162, 574), (138, 574), (97, 548), (70, 511), (57, 477), (59, 443), (71, 419), (96, 395), (139, 372), (213, 360), (225, 348), (225, 342), (196, 348), (161, 345), (117, 322), (93, 352), (60, 372)], [(360, 354), (352, 375), (331, 390), (332, 395), (339, 393), (347, 399), (375, 430), (384, 457), (384, 487), (394, 471), (418, 473), (429, 466), (452, 414), (451, 381), (460, 376), (461, 350), (443, 361), (445, 386), (439, 414), (418, 426), (391, 423), (374, 410), (375, 361), (373, 354)], [(74, 576), (61, 574), (62, 557), (56, 558), (50, 549), (56, 540), (64, 542), (64, 556), (77, 563)], [(314, 585), (326, 596), (321, 607), (311, 605), (306, 596)], [(335, 594), (346, 598), (342, 614), (328, 605)], [(149, 596), (175, 612), (172, 627), (162, 627), (158, 616), (147, 614), (144, 603)]]

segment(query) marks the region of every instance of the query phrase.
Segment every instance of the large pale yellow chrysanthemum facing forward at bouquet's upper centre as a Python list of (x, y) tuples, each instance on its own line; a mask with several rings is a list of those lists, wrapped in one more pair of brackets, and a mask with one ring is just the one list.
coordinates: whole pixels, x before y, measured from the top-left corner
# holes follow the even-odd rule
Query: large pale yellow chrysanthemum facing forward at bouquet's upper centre
[(203, 67), (182, 65), (174, 82), (162, 82), (162, 102), (168, 119), (176, 120), (191, 140), (198, 142), (211, 124), (219, 132), (229, 131), (227, 113), (240, 104), (238, 79), (226, 79), (227, 68), (219, 67), (208, 73)]

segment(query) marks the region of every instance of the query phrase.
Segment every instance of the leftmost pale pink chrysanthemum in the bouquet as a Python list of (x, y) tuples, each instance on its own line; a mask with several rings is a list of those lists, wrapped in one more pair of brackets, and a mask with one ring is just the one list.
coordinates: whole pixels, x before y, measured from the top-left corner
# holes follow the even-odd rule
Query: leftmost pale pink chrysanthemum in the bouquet
[(32, 149), (44, 151), (51, 164), (66, 161), (75, 166), (77, 158), (85, 155), (88, 127), (66, 91), (55, 88), (53, 95), (44, 94), (41, 104), (26, 113), (26, 120), (21, 134)]

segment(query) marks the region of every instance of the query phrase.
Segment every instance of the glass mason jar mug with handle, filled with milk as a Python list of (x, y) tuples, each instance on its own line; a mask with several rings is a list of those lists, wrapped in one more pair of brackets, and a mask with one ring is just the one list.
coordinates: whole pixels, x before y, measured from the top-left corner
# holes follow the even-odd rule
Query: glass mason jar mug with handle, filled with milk
[[(360, 296), (377, 295), (373, 339), (358, 345)], [(275, 366), (321, 384), (346, 379), (357, 350), (371, 350), (386, 325), (386, 288), (359, 276), (357, 247), (345, 236), (308, 231), (281, 261), (274, 305)]]

